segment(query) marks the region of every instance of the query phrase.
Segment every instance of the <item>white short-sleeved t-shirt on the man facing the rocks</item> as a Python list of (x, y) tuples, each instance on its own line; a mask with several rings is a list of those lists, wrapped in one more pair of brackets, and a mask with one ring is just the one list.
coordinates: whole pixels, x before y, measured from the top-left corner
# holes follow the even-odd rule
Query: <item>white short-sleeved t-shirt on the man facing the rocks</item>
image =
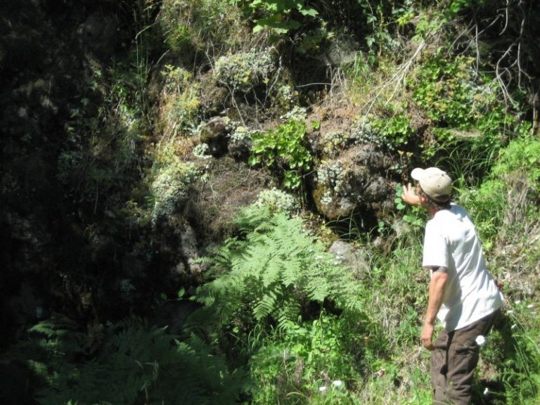
[(437, 211), (426, 224), (422, 265), (448, 269), (437, 314), (448, 332), (482, 319), (503, 304), (503, 295), (487, 271), (475, 226), (459, 205)]

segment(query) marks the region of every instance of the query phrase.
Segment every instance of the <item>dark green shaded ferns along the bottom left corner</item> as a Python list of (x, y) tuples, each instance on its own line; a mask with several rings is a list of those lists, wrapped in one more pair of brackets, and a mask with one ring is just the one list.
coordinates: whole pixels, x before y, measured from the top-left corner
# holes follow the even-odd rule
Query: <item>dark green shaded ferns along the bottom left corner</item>
[(84, 361), (84, 335), (74, 328), (63, 316), (41, 322), (31, 329), (32, 341), (2, 359), (7, 366), (24, 359), (41, 378), (39, 404), (233, 404), (243, 385), (244, 374), (230, 373), (224, 358), (194, 335), (174, 339), (131, 317), (107, 326), (97, 355)]

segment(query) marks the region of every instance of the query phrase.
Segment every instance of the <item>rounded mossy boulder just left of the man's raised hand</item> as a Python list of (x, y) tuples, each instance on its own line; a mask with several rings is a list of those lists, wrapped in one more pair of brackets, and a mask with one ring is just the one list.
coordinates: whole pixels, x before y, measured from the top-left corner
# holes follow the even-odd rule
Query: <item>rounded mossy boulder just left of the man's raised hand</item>
[(387, 179), (390, 155), (371, 143), (352, 146), (316, 169), (313, 199), (328, 219), (340, 219), (368, 207), (383, 214), (393, 206), (396, 184)]

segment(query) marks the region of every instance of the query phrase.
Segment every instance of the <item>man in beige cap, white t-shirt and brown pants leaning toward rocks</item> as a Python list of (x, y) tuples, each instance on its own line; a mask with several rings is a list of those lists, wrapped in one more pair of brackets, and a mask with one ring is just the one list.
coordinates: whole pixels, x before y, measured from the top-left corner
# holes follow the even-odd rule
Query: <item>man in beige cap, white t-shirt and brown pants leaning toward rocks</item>
[[(470, 404), (480, 345), (501, 311), (503, 296), (487, 271), (467, 212), (450, 202), (450, 176), (430, 167), (414, 169), (411, 177), (416, 188), (404, 186), (401, 198), (430, 216), (422, 266), (431, 271), (431, 279), (421, 340), (432, 352), (434, 403)], [(435, 318), (444, 330), (434, 343)]]

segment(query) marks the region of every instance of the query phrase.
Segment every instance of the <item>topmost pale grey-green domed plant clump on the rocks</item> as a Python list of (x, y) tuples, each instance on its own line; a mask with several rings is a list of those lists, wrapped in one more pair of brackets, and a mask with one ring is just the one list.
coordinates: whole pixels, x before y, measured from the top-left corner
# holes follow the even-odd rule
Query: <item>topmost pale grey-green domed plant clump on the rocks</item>
[(229, 86), (232, 91), (243, 93), (267, 83), (273, 71), (271, 48), (221, 56), (214, 65), (214, 77), (217, 80)]

